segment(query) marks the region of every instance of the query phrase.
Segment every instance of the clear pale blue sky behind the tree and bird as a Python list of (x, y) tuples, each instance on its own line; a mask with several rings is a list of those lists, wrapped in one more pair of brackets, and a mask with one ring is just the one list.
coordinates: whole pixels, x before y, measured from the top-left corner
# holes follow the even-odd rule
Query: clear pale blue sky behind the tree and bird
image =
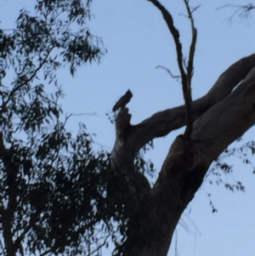
[[(31, 1), (1, 1), (3, 26), (9, 26), (9, 20), (15, 18), (24, 3), (27, 5)], [(173, 14), (187, 55), (191, 35), (184, 3), (181, 0), (162, 0), (161, 3)], [(218, 9), (227, 3), (248, 2), (190, 0), (193, 7), (201, 4), (194, 13), (198, 30), (192, 82), (194, 100), (206, 94), (229, 65), (254, 52), (255, 15), (246, 20), (238, 16), (229, 20), (235, 9)], [(9, 8), (12, 8), (11, 13)], [(133, 99), (127, 105), (133, 124), (156, 111), (183, 105), (184, 100), (180, 82), (166, 71), (156, 69), (157, 65), (163, 65), (178, 75), (173, 38), (160, 12), (151, 3), (146, 0), (94, 0), (91, 12), (88, 27), (94, 35), (102, 37), (108, 53), (99, 65), (94, 63), (79, 68), (75, 77), (71, 77), (67, 68), (59, 71), (59, 82), (65, 93), (62, 105), (69, 114), (87, 113), (72, 117), (67, 128), (75, 133), (78, 122), (86, 123), (88, 132), (97, 134), (94, 137), (96, 145), (111, 151), (115, 129), (105, 114), (111, 112), (116, 100), (128, 88), (133, 92)], [(181, 130), (174, 131), (165, 138), (154, 140), (155, 150), (146, 157), (155, 162), (157, 170), (173, 139), (180, 133)], [(242, 143), (253, 139), (253, 134), (254, 128), (246, 133)], [(181, 217), (168, 255), (175, 255), (175, 243), (180, 256), (254, 255), (255, 174), (252, 175), (251, 168), (243, 165), (237, 156), (228, 161), (235, 166), (235, 173), (224, 179), (229, 182), (241, 180), (246, 193), (232, 193), (223, 185), (210, 185), (206, 180)], [(217, 213), (212, 213), (208, 193), (212, 194)], [(103, 255), (110, 254), (105, 250)]]

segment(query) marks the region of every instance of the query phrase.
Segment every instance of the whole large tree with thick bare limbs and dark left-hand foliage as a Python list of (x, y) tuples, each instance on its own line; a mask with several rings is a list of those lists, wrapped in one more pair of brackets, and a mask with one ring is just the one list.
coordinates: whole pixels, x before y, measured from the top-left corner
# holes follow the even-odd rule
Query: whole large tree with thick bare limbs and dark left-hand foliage
[[(104, 53), (88, 30), (71, 31), (71, 21), (86, 24), (90, 2), (85, 7), (77, 1), (38, 0), (39, 18), (23, 10), (14, 33), (1, 31), (2, 254), (93, 255), (111, 236), (115, 254), (166, 255), (178, 219), (210, 164), (253, 125), (255, 55), (231, 65), (205, 96), (192, 101), (194, 9), (184, 0), (193, 35), (184, 61), (172, 15), (157, 0), (148, 1), (173, 35), (185, 104), (135, 126), (122, 107), (111, 155), (94, 152), (83, 124), (73, 138), (65, 130), (70, 116), (63, 118), (58, 104), (61, 89), (54, 71), (62, 62), (73, 74), (78, 65)], [(16, 77), (6, 88), (4, 76), (11, 68)], [(54, 94), (47, 94), (39, 78), (55, 84)], [(139, 152), (152, 139), (184, 126), (150, 188)]]

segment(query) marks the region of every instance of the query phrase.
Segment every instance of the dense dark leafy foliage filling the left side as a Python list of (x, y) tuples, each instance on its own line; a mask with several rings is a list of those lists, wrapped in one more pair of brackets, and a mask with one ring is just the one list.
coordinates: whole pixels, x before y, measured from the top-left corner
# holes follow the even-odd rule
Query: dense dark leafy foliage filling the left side
[[(82, 123), (75, 137), (65, 130), (56, 77), (63, 65), (73, 75), (105, 54), (88, 30), (89, 7), (37, 0), (35, 15), (21, 9), (16, 27), (0, 30), (0, 254), (77, 255), (99, 246), (96, 209), (109, 156), (93, 151)], [(6, 74), (13, 82), (6, 84)]]

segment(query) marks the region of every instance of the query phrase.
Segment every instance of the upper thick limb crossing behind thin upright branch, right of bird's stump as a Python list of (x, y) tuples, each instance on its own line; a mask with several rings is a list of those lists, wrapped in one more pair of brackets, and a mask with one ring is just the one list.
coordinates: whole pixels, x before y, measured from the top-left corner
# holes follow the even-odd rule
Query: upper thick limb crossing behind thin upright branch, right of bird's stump
[[(218, 77), (217, 82), (212, 86), (209, 92), (195, 100), (192, 104), (192, 115), (194, 120), (207, 111), (212, 105), (223, 100), (233, 89), (246, 77), (252, 67), (255, 65), (255, 54), (247, 56), (230, 65), (229, 68)], [(134, 128), (133, 134), (128, 139), (128, 144), (136, 153), (146, 145), (151, 139), (165, 136), (175, 129), (185, 125), (185, 107), (184, 105), (170, 110), (157, 112), (153, 116), (140, 122)]]

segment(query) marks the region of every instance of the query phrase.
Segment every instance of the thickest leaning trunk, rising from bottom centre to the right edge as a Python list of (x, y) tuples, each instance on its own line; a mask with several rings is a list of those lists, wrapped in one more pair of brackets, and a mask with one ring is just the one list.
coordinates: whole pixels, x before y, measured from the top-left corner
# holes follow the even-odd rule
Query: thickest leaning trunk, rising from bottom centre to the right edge
[[(144, 246), (140, 255), (167, 255), (178, 219), (201, 186), (210, 164), (254, 123), (255, 67), (238, 88), (197, 119), (191, 139), (179, 135), (174, 140), (156, 184), (133, 217), (139, 217), (139, 226), (133, 228), (150, 234), (150, 245)], [(135, 247), (139, 238), (133, 236)]]

